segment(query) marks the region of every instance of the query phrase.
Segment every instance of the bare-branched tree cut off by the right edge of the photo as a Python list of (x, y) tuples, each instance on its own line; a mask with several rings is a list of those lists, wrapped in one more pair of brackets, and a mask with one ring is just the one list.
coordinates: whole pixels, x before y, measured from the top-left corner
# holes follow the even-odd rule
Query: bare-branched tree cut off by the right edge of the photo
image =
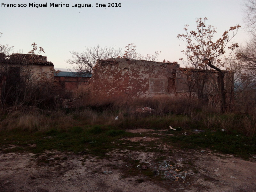
[(256, 106), (256, 0), (245, 0), (244, 5), (245, 28), (251, 39), (243, 47), (238, 48), (236, 60), (232, 61), (232, 65), (237, 69), (234, 70), (236, 105), (245, 107), (248, 112), (249, 108), (254, 107), (255, 110)]

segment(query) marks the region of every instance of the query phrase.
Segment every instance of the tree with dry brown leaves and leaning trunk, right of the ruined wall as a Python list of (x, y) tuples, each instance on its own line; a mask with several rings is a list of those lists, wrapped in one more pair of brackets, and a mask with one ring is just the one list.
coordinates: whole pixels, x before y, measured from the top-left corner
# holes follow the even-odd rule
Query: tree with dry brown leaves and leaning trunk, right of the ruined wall
[[(224, 64), (222, 61), (227, 59), (231, 52), (238, 47), (237, 43), (231, 44), (231, 40), (241, 26), (236, 25), (230, 27), (219, 39), (214, 41), (214, 35), (217, 33), (216, 28), (212, 25), (206, 26), (206, 20), (207, 18), (196, 19), (196, 30), (188, 31), (188, 25), (185, 25), (185, 33), (177, 36), (178, 39), (186, 43), (186, 50), (182, 52), (186, 55), (187, 61), (182, 58), (180, 60), (192, 64), (194, 69), (200, 67), (204, 69), (205, 73), (209, 74), (209, 78), (212, 80), (212, 86), (220, 97), (221, 111), (226, 112), (225, 72), (223, 70)], [(226, 55), (226, 53), (228, 55)], [(212, 76), (212, 70), (218, 73), (217, 82)]]

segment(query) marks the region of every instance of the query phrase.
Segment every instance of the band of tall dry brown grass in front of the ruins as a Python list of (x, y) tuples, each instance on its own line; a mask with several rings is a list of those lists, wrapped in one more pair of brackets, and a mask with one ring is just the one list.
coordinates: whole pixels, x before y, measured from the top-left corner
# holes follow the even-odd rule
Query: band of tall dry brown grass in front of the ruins
[[(140, 107), (154, 109), (152, 114), (138, 114)], [(118, 120), (115, 117), (118, 116)], [(67, 129), (83, 125), (111, 125), (118, 129), (153, 128), (167, 129), (181, 127), (185, 130), (224, 129), (228, 133), (239, 132), (254, 136), (255, 114), (219, 113), (211, 106), (202, 106), (198, 100), (174, 100), (170, 98), (124, 100), (105, 105), (86, 105), (74, 110), (58, 109), (42, 113), (22, 113), (2, 115), (0, 129), (46, 131), (52, 128)]]

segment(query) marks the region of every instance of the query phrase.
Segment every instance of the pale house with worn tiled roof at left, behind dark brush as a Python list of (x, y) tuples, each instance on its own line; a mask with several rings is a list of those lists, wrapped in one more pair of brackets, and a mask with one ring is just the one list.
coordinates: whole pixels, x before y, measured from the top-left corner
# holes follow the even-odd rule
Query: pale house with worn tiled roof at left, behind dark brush
[[(38, 81), (52, 77), (54, 65), (47, 57), (34, 54), (0, 54), (0, 103), (17, 105), (31, 101)], [(32, 90), (32, 87), (35, 87)], [(23, 99), (22, 99), (23, 98)]]

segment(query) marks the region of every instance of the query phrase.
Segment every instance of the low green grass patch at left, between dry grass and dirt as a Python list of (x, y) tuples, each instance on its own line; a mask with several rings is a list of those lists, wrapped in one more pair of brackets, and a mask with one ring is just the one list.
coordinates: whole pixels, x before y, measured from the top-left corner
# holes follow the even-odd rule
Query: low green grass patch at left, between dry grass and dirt
[[(0, 150), (5, 153), (15, 151), (43, 153), (45, 150), (72, 151), (74, 153), (83, 151), (82, 154), (105, 156), (111, 149), (119, 147), (116, 140), (132, 135), (137, 134), (105, 125), (75, 126), (65, 130), (52, 129), (34, 133), (13, 130), (7, 134), (2, 131)], [(10, 145), (14, 147), (8, 148)]]

